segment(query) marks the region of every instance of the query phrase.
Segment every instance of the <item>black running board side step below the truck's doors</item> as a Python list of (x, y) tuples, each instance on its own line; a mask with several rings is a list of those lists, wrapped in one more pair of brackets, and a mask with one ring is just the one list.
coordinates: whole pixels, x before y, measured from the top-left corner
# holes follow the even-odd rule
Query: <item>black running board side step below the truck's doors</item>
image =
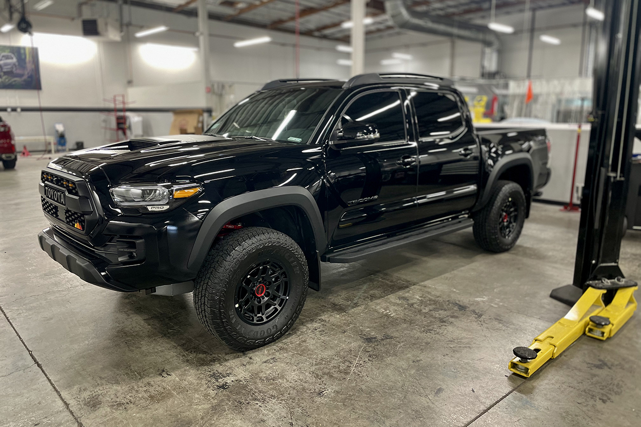
[(470, 228), (472, 225), (474, 225), (474, 221), (472, 221), (472, 219), (460, 218), (454, 221), (420, 228), (419, 230), (413, 230), (408, 233), (389, 237), (388, 239), (376, 240), (375, 242), (370, 242), (361, 246), (349, 247), (347, 249), (326, 253), (320, 257), (320, 260), (322, 262), (333, 262), (337, 264), (356, 262), (377, 252), (388, 251), (389, 249), (393, 249), (397, 246), (403, 246), (419, 240), (454, 233), (454, 231), (465, 230), (465, 228)]

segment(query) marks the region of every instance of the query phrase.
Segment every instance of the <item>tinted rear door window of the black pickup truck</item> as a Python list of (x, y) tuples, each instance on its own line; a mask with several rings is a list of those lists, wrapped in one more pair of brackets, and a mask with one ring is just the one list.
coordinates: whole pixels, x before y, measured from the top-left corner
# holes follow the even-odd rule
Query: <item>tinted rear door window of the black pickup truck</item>
[(419, 137), (447, 135), (463, 126), (456, 98), (436, 92), (412, 92), (412, 101), (419, 122)]

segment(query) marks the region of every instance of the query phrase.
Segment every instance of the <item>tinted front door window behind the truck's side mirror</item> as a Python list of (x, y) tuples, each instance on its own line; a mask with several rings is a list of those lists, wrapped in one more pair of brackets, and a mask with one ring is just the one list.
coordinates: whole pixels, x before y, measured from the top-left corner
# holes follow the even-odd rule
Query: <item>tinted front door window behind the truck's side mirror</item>
[(349, 121), (375, 124), (379, 142), (405, 139), (405, 121), (398, 92), (372, 92), (352, 103), (341, 117), (341, 126)]

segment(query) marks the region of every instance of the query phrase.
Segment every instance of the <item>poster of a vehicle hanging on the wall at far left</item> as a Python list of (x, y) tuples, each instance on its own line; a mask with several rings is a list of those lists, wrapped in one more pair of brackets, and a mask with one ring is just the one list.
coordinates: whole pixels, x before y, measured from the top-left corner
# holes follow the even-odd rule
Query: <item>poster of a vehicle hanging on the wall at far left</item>
[(41, 88), (38, 48), (0, 46), (0, 89)]

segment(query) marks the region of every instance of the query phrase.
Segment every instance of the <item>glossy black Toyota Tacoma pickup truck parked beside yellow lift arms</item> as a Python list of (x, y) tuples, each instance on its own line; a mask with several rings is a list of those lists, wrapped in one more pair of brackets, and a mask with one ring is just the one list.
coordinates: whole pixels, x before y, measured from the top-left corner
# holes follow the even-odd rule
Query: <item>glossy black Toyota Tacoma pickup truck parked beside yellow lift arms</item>
[(549, 180), (545, 130), (475, 132), (449, 80), (279, 80), (204, 135), (85, 149), (42, 171), (38, 234), (81, 279), (194, 291), (204, 327), (247, 350), (286, 333), (320, 262), (473, 227), (512, 248)]

